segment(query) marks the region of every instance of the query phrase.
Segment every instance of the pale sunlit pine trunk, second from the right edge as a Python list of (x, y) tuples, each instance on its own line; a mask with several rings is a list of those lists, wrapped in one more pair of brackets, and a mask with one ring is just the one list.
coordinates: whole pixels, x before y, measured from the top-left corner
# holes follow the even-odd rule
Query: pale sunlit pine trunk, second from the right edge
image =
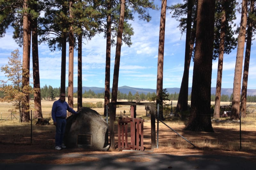
[(240, 91), (244, 58), (244, 42), (247, 23), (247, 0), (242, 2), (240, 30), (237, 37), (236, 66), (233, 85), (233, 98), (231, 108), (231, 119), (238, 120), (240, 112)]

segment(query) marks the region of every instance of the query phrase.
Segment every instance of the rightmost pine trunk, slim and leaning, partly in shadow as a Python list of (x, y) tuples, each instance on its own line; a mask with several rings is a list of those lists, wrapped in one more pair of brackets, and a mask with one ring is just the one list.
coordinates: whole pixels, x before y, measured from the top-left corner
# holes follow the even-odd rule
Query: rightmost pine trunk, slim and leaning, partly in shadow
[[(250, 13), (254, 13), (255, 0), (251, 0)], [(241, 95), (241, 114), (243, 117), (246, 117), (246, 97), (247, 97), (247, 82), (249, 74), (249, 63), (251, 55), (251, 45), (252, 45), (252, 20), (248, 18), (248, 28), (247, 28), (247, 41), (245, 47), (245, 56), (244, 56), (244, 74), (243, 74), (243, 83), (242, 83), (242, 95)]]

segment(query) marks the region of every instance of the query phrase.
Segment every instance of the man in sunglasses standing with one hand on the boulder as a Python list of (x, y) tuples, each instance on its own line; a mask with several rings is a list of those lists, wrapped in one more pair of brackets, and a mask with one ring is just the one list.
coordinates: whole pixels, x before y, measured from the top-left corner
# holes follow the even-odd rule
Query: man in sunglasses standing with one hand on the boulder
[(77, 114), (75, 110), (68, 106), (68, 103), (65, 101), (66, 94), (60, 93), (60, 99), (54, 101), (52, 105), (52, 120), (53, 124), (56, 126), (56, 135), (55, 135), (55, 149), (61, 150), (65, 149), (66, 146), (63, 144), (63, 137), (66, 128), (66, 117), (67, 110), (70, 113)]

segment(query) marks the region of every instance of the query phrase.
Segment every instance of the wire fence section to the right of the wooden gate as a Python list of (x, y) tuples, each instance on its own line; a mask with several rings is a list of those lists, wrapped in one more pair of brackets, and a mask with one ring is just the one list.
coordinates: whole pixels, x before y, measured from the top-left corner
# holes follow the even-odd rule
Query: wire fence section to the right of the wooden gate
[[(211, 118), (214, 132), (184, 131), (188, 116), (171, 116), (159, 122), (159, 148), (162, 146), (177, 148), (209, 148), (224, 150), (256, 151), (256, 114), (247, 114), (240, 120), (230, 117)], [(188, 140), (188, 141), (186, 141)], [(192, 144), (190, 144), (192, 143)]]

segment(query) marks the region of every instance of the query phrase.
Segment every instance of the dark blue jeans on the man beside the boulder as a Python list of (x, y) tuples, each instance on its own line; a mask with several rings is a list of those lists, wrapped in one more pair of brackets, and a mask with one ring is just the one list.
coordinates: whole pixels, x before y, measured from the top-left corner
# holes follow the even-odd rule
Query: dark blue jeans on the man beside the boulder
[(56, 123), (55, 146), (60, 146), (63, 143), (67, 122), (64, 118), (56, 118)]

